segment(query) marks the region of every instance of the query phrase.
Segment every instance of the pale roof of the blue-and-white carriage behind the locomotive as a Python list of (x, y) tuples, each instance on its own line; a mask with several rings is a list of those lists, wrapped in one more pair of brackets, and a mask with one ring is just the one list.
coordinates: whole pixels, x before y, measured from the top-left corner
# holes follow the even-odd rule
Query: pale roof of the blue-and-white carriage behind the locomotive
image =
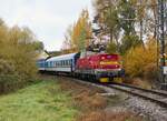
[(69, 53), (69, 54), (52, 57), (52, 58), (48, 59), (47, 61), (69, 60), (69, 59), (73, 59), (76, 54), (77, 53)]

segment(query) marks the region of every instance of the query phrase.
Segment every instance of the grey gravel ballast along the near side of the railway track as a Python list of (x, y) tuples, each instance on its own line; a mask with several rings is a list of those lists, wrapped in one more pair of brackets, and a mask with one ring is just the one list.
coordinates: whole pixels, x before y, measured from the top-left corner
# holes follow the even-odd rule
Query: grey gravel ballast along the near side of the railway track
[(115, 89), (107, 89), (107, 91), (115, 92), (116, 94), (126, 94), (125, 102), (122, 104), (122, 110), (127, 108), (134, 113), (146, 118), (148, 121), (167, 121), (167, 109), (163, 108), (154, 102), (144, 100), (138, 97), (127, 94), (125, 92), (117, 91)]

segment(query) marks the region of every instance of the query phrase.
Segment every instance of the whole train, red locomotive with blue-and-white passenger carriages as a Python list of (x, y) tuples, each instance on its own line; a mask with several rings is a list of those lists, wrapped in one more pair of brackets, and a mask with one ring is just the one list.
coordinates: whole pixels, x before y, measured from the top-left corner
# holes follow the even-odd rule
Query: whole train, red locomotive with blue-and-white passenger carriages
[(37, 65), (40, 72), (63, 73), (98, 82), (120, 81), (125, 75), (119, 54), (81, 56), (80, 52), (76, 52), (39, 59)]

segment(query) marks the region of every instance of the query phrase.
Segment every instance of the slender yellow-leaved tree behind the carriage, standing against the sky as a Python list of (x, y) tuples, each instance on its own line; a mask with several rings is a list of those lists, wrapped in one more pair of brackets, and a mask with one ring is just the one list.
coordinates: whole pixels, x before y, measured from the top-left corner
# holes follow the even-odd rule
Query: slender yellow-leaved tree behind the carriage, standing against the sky
[(69, 26), (62, 44), (63, 53), (84, 51), (92, 37), (88, 10), (82, 10), (73, 26)]

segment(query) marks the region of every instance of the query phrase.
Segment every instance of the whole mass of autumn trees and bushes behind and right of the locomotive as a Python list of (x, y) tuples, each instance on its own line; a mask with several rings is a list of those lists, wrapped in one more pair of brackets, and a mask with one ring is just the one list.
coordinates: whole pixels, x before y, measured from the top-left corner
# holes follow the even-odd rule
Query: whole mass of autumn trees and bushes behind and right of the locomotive
[[(160, 40), (157, 40), (158, 28), (154, 26), (157, 24), (158, 17), (155, 4), (158, 4), (158, 0), (143, 2), (140, 0), (92, 0), (95, 10), (94, 21), (90, 22), (92, 26), (88, 24), (89, 18), (85, 19), (84, 10), (75, 22), (77, 24), (69, 26), (67, 29), (62, 50), (68, 53), (73, 51), (76, 43), (85, 41), (84, 43), (91, 44), (97, 40), (106, 46), (106, 52), (121, 56), (128, 80), (141, 79), (156, 82), (159, 78), (160, 50), (157, 47)], [(88, 11), (87, 14), (89, 17)], [(81, 32), (84, 30), (89, 34), (84, 34)], [(94, 37), (92, 33), (96, 37), (94, 41), (89, 40)]]

